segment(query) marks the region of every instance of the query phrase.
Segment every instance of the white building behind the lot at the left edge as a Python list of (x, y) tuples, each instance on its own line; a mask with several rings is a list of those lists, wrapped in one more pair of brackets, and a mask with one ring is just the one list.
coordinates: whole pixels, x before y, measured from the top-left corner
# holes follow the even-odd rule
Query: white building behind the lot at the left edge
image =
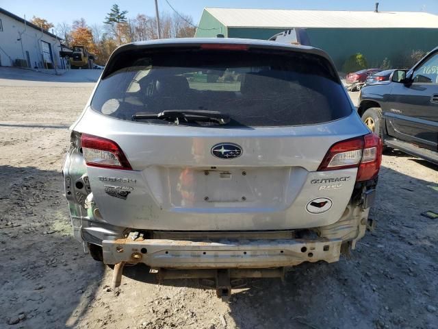
[(61, 39), (0, 8), (0, 66), (63, 68)]

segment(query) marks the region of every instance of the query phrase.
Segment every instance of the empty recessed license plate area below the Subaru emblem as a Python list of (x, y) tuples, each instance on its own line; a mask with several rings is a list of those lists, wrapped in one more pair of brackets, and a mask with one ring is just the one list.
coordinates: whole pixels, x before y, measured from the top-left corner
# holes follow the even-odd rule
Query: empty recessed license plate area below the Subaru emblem
[(284, 200), (287, 168), (168, 168), (173, 206), (196, 208), (278, 206)]

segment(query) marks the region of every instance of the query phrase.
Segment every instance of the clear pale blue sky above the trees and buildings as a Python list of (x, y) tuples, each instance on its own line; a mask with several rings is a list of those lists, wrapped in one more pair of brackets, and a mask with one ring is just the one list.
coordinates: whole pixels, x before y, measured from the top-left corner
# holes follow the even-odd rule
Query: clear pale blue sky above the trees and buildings
[[(219, 8), (273, 8), (273, 9), (311, 9), (311, 10), (374, 10), (376, 0), (168, 0), (180, 13), (193, 17), (197, 24), (204, 7)], [(412, 11), (438, 14), (438, 0), (380, 0), (379, 10)], [(18, 16), (31, 19), (40, 16), (51, 23), (66, 22), (83, 17), (88, 24), (102, 23), (113, 3), (128, 10), (128, 16), (137, 14), (155, 15), (154, 0), (0, 0), (0, 7)], [(166, 0), (159, 0), (159, 9), (172, 12)]]

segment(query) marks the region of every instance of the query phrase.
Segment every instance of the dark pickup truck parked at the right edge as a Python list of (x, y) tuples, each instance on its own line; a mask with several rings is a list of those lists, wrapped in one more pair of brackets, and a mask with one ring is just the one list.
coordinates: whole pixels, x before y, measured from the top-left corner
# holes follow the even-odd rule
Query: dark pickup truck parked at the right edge
[(438, 47), (389, 83), (362, 88), (358, 110), (387, 148), (438, 164)]

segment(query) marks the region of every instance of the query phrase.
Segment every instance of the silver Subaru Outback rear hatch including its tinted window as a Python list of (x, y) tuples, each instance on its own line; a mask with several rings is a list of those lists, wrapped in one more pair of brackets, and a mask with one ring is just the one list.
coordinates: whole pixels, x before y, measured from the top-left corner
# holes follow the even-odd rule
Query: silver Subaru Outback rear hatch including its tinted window
[[(227, 42), (113, 54), (74, 127), (105, 221), (284, 230), (342, 216), (357, 166), (318, 168), (332, 145), (368, 130), (333, 64), (305, 47)], [(96, 151), (105, 147), (117, 163)]]

